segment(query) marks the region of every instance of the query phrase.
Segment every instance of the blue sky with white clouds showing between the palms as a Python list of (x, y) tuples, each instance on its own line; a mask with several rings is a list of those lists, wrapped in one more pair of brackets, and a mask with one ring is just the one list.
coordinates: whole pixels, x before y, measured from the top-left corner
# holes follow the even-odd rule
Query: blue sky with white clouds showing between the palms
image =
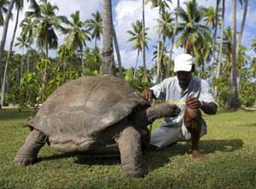
[[(25, 7), (21, 13), (20, 20), (25, 18), (25, 12), (29, 9), (28, 5), (25, 2)], [(95, 13), (96, 10), (102, 12), (102, 0), (49, 0), (50, 3), (59, 7), (59, 11), (55, 14), (58, 15), (66, 15), (68, 19), (70, 19), (70, 14), (75, 13), (75, 11), (80, 11), (80, 19), (87, 20), (91, 18), (91, 14)], [(142, 10), (143, 10), (143, 1), (142, 0), (112, 0), (112, 9), (113, 9), (113, 22), (116, 30), (116, 34), (119, 41), (119, 49), (121, 54), (122, 65), (125, 68), (135, 66), (136, 58), (137, 58), (137, 50), (132, 50), (132, 43), (126, 43), (127, 40), (131, 37), (126, 31), (131, 30), (131, 23), (136, 20), (142, 20)], [(188, 0), (180, 0), (180, 6), (185, 9), (184, 2), (188, 2)], [(197, 3), (200, 6), (209, 7), (212, 6), (215, 9), (216, 6), (215, 0), (197, 0)], [(221, 3), (222, 4), (222, 3)], [(232, 20), (232, 0), (226, 0), (226, 11), (225, 11), (225, 27), (231, 27)], [(170, 3), (171, 11), (177, 7), (177, 1), (172, 0)], [(248, 3), (247, 9), (247, 20), (245, 24), (245, 28), (242, 35), (241, 44), (245, 45), (247, 49), (250, 49), (253, 38), (256, 38), (256, 3), (255, 0), (251, 0)], [(236, 30), (240, 30), (241, 19), (243, 14), (243, 7), (241, 7), (240, 3), (237, 1), (237, 22), (236, 22)], [(153, 57), (153, 46), (157, 44), (157, 23), (156, 19), (158, 19), (158, 8), (151, 9), (151, 4), (148, 3), (145, 6), (145, 25), (149, 28), (148, 37), (151, 38), (151, 41), (148, 43), (148, 50), (146, 53), (146, 63), (148, 67), (153, 66), (152, 57)], [(14, 15), (15, 18), (15, 15)], [(13, 35), (15, 27), (15, 20), (11, 20), (9, 23), (8, 37), (5, 44), (5, 49), (9, 49), (10, 39)], [(20, 28), (16, 33), (16, 37), (20, 35)], [(2, 38), (3, 27), (0, 28), (0, 37)], [(64, 37), (60, 32), (57, 32), (57, 36), (59, 37), (59, 45), (65, 43)], [(166, 41), (167, 44), (171, 44), (170, 40)], [(98, 43), (100, 48), (102, 48), (102, 42)], [(93, 47), (94, 40), (92, 42), (87, 43), (89, 47)], [(170, 49), (170, 45), (167, 47)], [(18, 47), (15, 47), (13, 50), (15, 52), (21, 53), (21, 50)], [(183, 53), (183, 49), (174, 49), (173, 57), (177, 54)], [(255, 53), (253, 50), (249, 50), (247, 54), (250, 57), (255, 57)], [(49, 56), (55, 57), (55, 50), (49, 51)], [(116, 60), (116, 59), (115, 59)], [(143, 57), (142, 54), (138, 60), (138, 66), (143, 65)]]

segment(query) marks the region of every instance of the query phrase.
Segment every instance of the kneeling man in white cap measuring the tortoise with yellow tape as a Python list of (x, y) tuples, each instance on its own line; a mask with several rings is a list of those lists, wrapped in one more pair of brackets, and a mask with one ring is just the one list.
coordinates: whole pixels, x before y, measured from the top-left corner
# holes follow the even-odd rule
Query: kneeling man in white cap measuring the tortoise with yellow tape
[(201, 117), (201, 110), (207, 114), (215, 114), (217, 103), (209, 84), (199, 77), (192, 76), (194, 71), (192, 56), (179, 54), (174, 60), (174, 72), (177, 76), (166, 78), (140, 94), (145, 100), (165, 100), (181, 108), (177, 117), (166, 117), (160, 128), (154, 130), (150, 141), (152, 148), (190, 140), (193, 158), (204, 158), (198, 145), (200, 137), (207, 134), (207, 124)]

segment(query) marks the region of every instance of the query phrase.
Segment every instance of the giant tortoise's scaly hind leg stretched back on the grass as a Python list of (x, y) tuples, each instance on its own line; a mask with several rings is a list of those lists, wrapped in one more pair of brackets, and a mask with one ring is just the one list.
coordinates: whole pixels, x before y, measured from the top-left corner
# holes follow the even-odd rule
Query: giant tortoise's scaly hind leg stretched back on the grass
[(14, 159), (15, 165), (26, 166), (35, 163), (38, 157), (38, 152), (41, 147), (44, 146), (46, 140), (46, 135), (33, 129), (32, 132), (27, 135), (24, 145), (21, 146), (20, 150), (17, 152)]

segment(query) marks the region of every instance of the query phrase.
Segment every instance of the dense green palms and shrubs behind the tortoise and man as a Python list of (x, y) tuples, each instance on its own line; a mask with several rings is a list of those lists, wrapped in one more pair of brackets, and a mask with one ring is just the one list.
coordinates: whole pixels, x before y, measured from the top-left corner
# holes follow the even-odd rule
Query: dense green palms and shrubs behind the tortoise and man
[[(256, 96), (256, 59), (248, 55), (256, 52), (256, 37), (251, 47), (241, 43), (246, 25), (248, 1), (239, 1), (243, 8), (240, 31), (236, 31), (236, 0), (233, 0), (232, 27), (225, 26), (225, 1), (216, 0), (216, 7), (201, 7), (196, 0), (188, 0), (183, 6), (177, 0), (177, 8), (170, 9), (174, 1), (148, 0), (152, 9), (158, 9), (157, 26), (148, 28), (142, 19), (129, 23), (126, 31), (131, 48), (137, 52), (131, 68), (121, 65), (118, 37), (112, 19), (111, 1), (103, 0), (103, 11), (97, 10), (90, 18), (82, 18), (78, 11), (70, 17), (58, 14), (58, 7), (49, 0), (30, 0), (26, 18), (19, 19), (23, 1), (3, 0), (0, 3), (0, 27), (3, 35), (0, 46), (1, 105), (17, 104), (20, 110), (26, 106), (37, 108), (55, 89), (74, 78), (104, 73), (123, 77), (137, 92), (174, 76), (174, 46), (195, 56), (195, 75), (211, 85), (219, 107), (237, 109), (253, 106)], [(237, 5), (239, 6), (239, 5)], [(21, 33), (7, 32), (9, 21), (16, 15), (16, 27)], [(104, 16), (108, 15), (108, 16)], [(104, 18), (108, 18), (105, 19)], [(104, 24), (105, 23), (105, 24)], [(105, 26), (105, 27), (104, 27)], [(157, 42), (148, 47), (149, 30), (157, 31)], [(60, 33), (64, 41), (59, 41)], [(4, 49), (6, 36), (12, 34), (9, 49)], [(87, 44), (92, 41), (92, 47)], [(113, 44), (114, 42), (114, 44)], [(103, 47), (102, 47), (103, 44)], [(20, 48), (21, 53), (12, 50)], [(117, 59), (114, 57), (114, 50)], [(145, 51), (153, 50), (147, 61)], [(49, 57), (49, 49), (55, 49), (55, 57)], [(143, 54), (143, 66), (137, 66)], [(115, 61), (118, 60), (118, 63)], [(247, 96), (245, 99), (244, 96)]]

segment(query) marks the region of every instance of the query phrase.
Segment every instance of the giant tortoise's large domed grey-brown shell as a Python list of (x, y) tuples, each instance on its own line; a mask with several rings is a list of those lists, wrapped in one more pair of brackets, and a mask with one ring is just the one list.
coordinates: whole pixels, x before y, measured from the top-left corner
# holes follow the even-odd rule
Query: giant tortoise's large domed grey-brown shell
[(56, 89), (28, 125), (47, 135), (57, 151), (83, 152), (102, 130), (123, 120), (134, 108), (148, 106), (118, 77), (79, 77)]

